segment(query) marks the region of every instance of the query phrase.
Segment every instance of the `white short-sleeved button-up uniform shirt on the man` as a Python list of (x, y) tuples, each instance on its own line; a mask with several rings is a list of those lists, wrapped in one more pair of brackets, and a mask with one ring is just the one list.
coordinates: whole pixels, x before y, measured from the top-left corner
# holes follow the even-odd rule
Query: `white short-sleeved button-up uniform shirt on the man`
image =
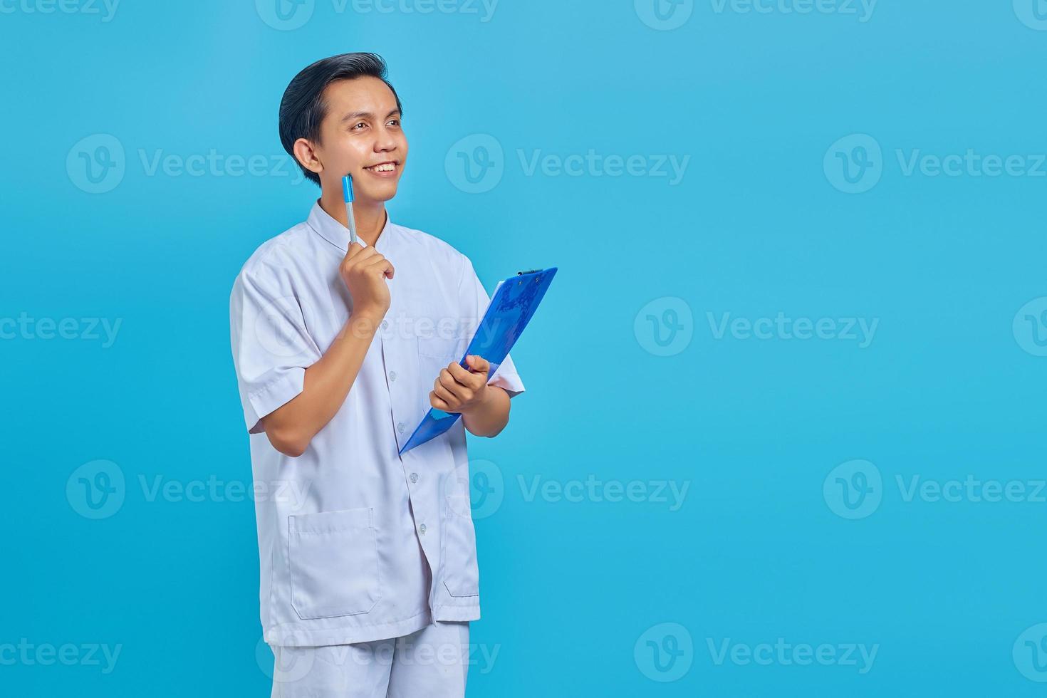
[[(391, 305), (346, 402), (298, 457), (260, 424), (302, 391), (352, 313), (338, 273), (348, 245), (317, 202), (250, 256), (229, 302), (271, 645), (362, 643), (480, 617), (462, 420), (398, 454), (490, 303), (468, 257), (386, 221), (375, 249), (396, 268)], [(490, 377), (510, 397), (524, 391), (509, 357)]]

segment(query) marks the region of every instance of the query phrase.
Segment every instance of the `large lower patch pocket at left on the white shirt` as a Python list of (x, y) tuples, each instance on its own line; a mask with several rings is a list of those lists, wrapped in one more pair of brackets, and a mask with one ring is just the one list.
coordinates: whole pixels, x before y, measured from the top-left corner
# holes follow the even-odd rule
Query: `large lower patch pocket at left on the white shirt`
[(367, 613), (381, 599), (371, 509), (288, 517), (291, 606), (300, 618)]

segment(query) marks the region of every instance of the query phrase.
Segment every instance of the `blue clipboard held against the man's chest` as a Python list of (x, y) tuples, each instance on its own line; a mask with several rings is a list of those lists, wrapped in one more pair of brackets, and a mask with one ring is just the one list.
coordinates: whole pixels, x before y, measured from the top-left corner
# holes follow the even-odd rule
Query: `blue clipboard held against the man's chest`
[[(487, 375), (493, 377), (494, 371), (509, 355), (509, 350), (519, 339), (534, 311), (538, 309), (538, 303), (545, 295), (554, 275), (556, 267), (550, 267), (517, 272), (515, 276), (498, 282), (491, 305), (487, 307), (484, 319), (476, 325), (476, 332), (469, 340), (469, 346), (466, 347), (459, 364), (468, 368), (465, 357), (477, 354), (491, 364)], [(400, 449), (400, 454), (444, 433), (460, 416), (462, 415), (458, 412), (430, 408), (410, 434), (410, 438)]]

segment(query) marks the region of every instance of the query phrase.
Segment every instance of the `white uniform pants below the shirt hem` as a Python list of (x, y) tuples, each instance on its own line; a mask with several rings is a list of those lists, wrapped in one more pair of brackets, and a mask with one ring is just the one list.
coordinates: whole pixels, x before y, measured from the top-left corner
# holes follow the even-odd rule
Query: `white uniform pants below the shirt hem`
[(463, 698), (469, 624), (356, 645), (273, 647), (272, 698)]

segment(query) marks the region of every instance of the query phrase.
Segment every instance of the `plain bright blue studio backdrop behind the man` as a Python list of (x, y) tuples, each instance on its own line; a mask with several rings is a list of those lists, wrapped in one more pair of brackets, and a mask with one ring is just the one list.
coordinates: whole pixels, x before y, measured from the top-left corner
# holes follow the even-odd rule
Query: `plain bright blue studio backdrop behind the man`
[[(252, 502), (151, 501), (140, 478), (249, 485), (228, 293), (318, 196), (283, 154), (279, 100), (312, 61), (374, 50), (410, 141), (394, 221), (465, 252), (489, 291), (518, 269), (560, 269), (513, 350), (528, 390), (509, 428), (470, 441), (504, 489), (476, 517), (471, 640), (497, 655), (472, 667), (470, 696), (1042, 695), (1045, 493), (934, 501), (897, 485), (971, 475), (1030, 495), (1045, 477), (1047, 166), (907, 175), (897, 155), (1042, 158), (1047, 31), (1033, 0), (882, 0), (867, 21), (856, 3), (704, 0), (676, 7), (690, 15), (672, 29), (642, 0), (502, 0), (489, 21), (478, 3), (403, 9), (419, 1), (384, 13), (315, 0), (297, 28), (261, 0), (124, 0), (110, 21), (102, 5), (3, 5), (0, 316), (121, 324), (111, 345), (0, 325), (13, 476), (0, 650), (121, 649), (110, 673), (2, 662), (0, 693), (268, 695)], [(76, 163), (103, 157), (97, 134), (119, 143), (125, 172), (90, 193)], [(476, 156), (475, 134), (502, 153), (496, 181), (469, 193), (451, 165)], [(852, 134), (874, 139), (878, 161)], [(656, 156), (689, 160), (675, 184), (595, 166), (529, 175), (520, 161), (589, 149), (648, 171)], [(283, 166), (149, 167), (211, 150)], [(832, 163), (865, 156), (874, 185), (842, 190)], [(1035, 312), (1020, 311), (1030, 300)], [(865, 347), (717, 338), (710, 313), (878, 324)], [(665, 337), (677, 338), (669, 356)], [(126, 491), (95, 520), (67, 483), (98, 459)], [(865, 493), (875, 506), (833, 494), (833, 469), (854, 459), (881, 476)], [(591, 475), (688, 490), (675, 511), (600, 488), (528, 496), (536, 477)], [(725, 640), (778, 638), (878, 649), (865, 673), (861, 659), (716, 661)], [(648, 639), (676, 651), (655, 655)]]

